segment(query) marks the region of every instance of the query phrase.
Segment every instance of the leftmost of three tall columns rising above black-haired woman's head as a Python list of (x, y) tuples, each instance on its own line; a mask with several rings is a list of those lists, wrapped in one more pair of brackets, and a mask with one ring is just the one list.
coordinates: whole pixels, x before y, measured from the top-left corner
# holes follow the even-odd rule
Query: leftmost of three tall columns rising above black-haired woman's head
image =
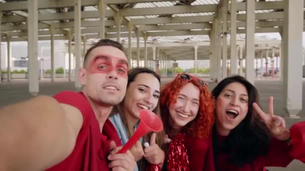
[(222, 1), (222, 78), (227, 77), (227, 59), (228, 59), (228, 44), (227, 44), (227, 20), (228, 20), (228, 0)]

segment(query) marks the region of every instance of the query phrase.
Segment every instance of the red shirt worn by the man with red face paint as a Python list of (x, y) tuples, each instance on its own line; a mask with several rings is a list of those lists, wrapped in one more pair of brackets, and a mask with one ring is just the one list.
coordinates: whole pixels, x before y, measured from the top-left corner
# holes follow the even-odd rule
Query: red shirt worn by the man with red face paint
[(82, 92), (63, 91), (54, 98), (78, 108), (83, 116), (83, 124), (72, 153), (48, 170), (109, 170), (109, 142), (114, 140), (117, 146), (121, 145), (111, 121), (106, 120), (101, 133), (94, 111)]

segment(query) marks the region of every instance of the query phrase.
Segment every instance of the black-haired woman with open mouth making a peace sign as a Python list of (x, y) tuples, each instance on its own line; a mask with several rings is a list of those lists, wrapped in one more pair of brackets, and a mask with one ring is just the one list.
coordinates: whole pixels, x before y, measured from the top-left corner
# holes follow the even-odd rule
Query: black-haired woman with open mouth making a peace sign
[[(216, 100), (213, 148), (216, 170), (265, 170), (305, 161), (305, 122), (285, 128), (282, 117), (258, 105), (257, 89), (242, 76), (223, 79), (212, 90)], [(292, 141), (291, 141), (292, 140)]]

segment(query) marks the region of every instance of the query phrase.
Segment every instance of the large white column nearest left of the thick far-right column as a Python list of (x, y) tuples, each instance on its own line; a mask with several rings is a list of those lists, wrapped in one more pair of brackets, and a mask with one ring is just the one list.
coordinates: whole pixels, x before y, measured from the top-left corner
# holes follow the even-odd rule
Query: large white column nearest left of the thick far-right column
[(246, 1), (246, 78), (254, 84), (255, 0)]

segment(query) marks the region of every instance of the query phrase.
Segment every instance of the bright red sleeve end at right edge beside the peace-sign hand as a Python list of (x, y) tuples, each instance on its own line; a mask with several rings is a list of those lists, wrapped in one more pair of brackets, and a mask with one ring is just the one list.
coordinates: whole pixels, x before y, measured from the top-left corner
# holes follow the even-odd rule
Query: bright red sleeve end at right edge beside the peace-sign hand
[(290, 128), (291, 144), (289, 155), (305, 162), (305, 121), (295, 123)]

